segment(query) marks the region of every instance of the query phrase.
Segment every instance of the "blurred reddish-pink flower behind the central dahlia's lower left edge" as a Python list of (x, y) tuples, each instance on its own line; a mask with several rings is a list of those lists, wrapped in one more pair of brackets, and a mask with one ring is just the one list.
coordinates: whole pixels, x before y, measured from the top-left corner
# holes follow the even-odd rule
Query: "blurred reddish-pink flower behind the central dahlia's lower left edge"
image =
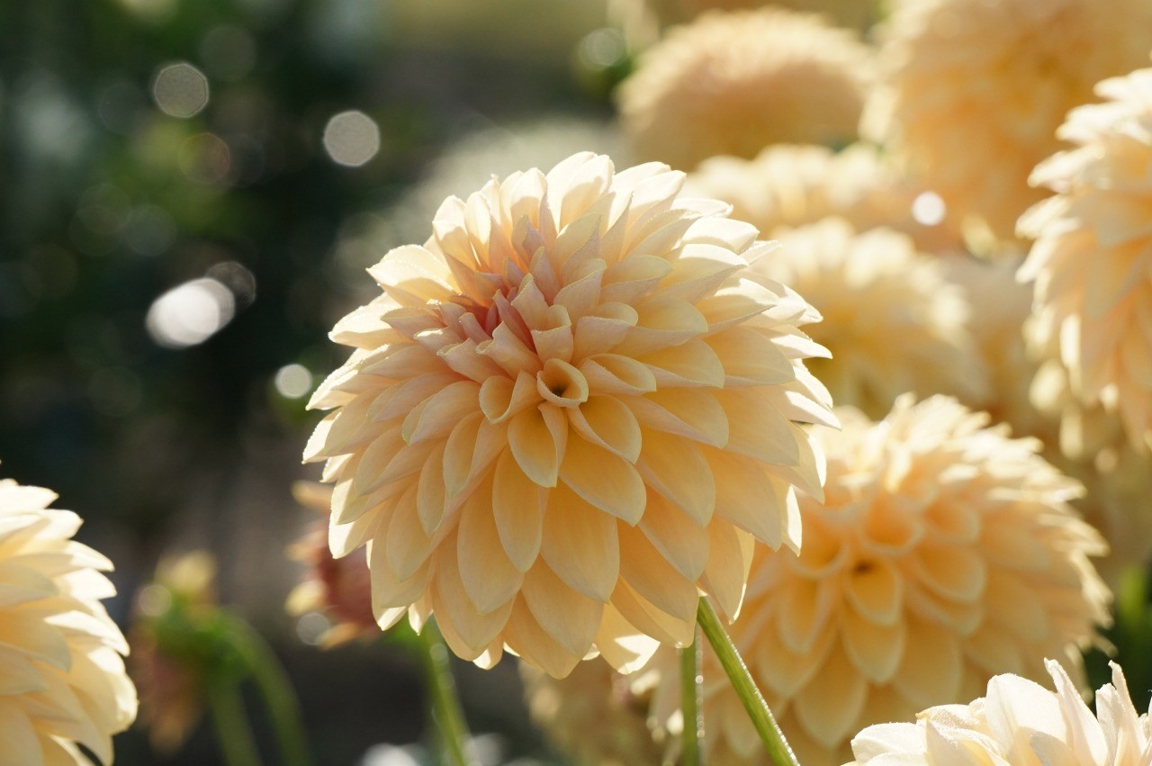
[(328, 548), (328, 517), (332, 513), (332, 487), (316, 481), (297, 481), (291, 488), (296, 501), (319, 513), (321, 518), (288, 551), (288, 555), (308, 567), (305, 578), (286, 605), (289, 614), (320, 613), (331, 627), (318, 636), (325, 649), (354, 638), (376, 638), (380, 629), (372, 615), (372, 586), (369, 581), (364, 548), (343, 559), (335, 559)]

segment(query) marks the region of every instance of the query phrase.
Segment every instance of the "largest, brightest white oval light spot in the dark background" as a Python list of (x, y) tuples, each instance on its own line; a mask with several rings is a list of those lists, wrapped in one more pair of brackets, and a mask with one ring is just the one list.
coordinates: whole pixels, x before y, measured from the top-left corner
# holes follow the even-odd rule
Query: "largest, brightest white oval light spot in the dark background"
[(214, 279), (194, 279), (158, 297), (144, 326), (165, 348), (203, 343), (232, 320), (235, 298)]

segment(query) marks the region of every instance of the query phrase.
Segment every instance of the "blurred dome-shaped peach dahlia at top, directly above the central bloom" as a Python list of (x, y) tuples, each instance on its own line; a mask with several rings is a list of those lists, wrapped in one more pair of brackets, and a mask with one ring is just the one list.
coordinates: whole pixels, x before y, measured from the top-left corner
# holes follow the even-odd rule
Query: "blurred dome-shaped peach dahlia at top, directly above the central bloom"
[(637, 156), (690, 169), (767, 144), (844, 144), (871, 50), (821, 16), (781, 8), (712, 13), (674, 28), (617, 92)]

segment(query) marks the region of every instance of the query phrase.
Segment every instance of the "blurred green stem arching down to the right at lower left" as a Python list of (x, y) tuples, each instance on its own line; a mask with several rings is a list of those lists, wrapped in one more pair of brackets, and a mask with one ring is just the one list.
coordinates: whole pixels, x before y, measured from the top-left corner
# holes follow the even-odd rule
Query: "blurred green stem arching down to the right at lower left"
[(311, 766), (312, 757), (304, 738), (304, 718), (287, 672), (268, 643), (250, 624), (235, 615), (229, 615), (228, 622), (233, 647), (244, 658), (268, 708), (268, 718), (280, 748), (280, 763), (286, 766)]

